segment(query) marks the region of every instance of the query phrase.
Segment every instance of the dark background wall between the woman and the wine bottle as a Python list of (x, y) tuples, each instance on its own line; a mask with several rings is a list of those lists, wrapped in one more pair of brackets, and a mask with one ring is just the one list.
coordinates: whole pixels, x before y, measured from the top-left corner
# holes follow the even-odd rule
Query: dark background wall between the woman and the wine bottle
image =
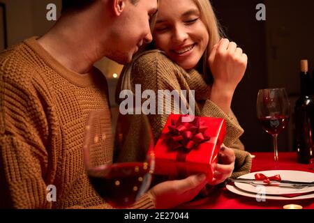
[[(211, 0), (227, 38), (248, 54), (248, 68), (239, 84), (232, 109), (243, 126), (241, 140), (248, 151), (272, 151), (271, 136), (256, 118), (258, 89), (285, 87), (292, 118), (278, 136), (279, 151), (294, 150), (293, 108), (299, 89), (299, 61), (314, 68), (314, 1)], [(266, 6), (266, 21), (257, 21), (255, 7)]]

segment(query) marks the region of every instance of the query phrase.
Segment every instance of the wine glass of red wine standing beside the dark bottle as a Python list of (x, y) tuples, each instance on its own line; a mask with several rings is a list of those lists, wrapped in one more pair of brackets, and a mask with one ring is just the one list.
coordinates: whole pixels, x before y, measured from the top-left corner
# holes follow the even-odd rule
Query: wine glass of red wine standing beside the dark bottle
[(278, 163), (278, 134), (290, 118), (290, 102), (285, 89), (261, 89), (257, 94), (257, 118), (266, 132), (274, 139), (274, 160)]

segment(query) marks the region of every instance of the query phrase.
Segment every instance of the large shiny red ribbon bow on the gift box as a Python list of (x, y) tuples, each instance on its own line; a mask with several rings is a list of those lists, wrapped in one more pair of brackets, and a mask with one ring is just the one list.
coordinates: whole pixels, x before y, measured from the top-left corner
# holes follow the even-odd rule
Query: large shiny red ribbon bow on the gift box
[(174, 150), (184, 149), (190, 151), (202, 144), (204, 141), (211, 139), (207, 134), (207, 126), (204, 125), (204, 121), (200, 117), (195, 117), (192, 122), (183, 122), (180, 116), (178, 121), (171, 120), (172, 125), (168, 125), (168, 132), (165, 138), (168, 140), (168, 146)]

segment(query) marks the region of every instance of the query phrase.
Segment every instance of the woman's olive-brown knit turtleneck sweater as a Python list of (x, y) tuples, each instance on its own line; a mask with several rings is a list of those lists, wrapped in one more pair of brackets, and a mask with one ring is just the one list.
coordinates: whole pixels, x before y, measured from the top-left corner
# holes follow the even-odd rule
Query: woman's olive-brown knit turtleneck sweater
[[(195, 115), (210, 116), (216, 118), (225, 118), (226, 122), (226, 137), (223, 143), (225, 146), (234, 149), (236, 162), (232, 177), (248, 174), (251, 170), (251, 156), (244, 151), (244, 145), (239, 140), (244, 130), (239, 125), (236, 116), (232, 112), (229, 115), (225, 114), (214, 102), (209, 100), (211, 86), (204, 82), (202, 75), (197, 70), (188, 70), (184, 72), (178, 66), (160, 52), (147, 52), (140, 56), (133, 64), (131, 72), (131, 81), (135, 84), (141, 84), (142, 91), (153, 90), (186, 90), (186, 95), (189, 95), (191, 90), (195, 91)], [(186, 105), (188, 106), (188, 96), (186, 96)], [(165, 100), (163, 102), (164, 111), (178, 113), (174, 109), (174, 104), (171, 107), (166, 107)], [(167, 121), (167, 114), (150, 114), (149, 121), (154, 133), (155, 140), (160, 137), (160, 133)]]

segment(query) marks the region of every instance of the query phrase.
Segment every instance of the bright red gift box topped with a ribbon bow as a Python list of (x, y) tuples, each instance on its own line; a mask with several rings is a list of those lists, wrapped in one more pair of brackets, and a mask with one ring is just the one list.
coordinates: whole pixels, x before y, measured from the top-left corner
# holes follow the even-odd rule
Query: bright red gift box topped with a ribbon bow
[(171, 114), (154, 148), (155, 174), (185, 178), (207, 174), (211, 184), (218, 151), (225, 137), (225, 120), (195, 116), (183, 122), (183, 116)]

